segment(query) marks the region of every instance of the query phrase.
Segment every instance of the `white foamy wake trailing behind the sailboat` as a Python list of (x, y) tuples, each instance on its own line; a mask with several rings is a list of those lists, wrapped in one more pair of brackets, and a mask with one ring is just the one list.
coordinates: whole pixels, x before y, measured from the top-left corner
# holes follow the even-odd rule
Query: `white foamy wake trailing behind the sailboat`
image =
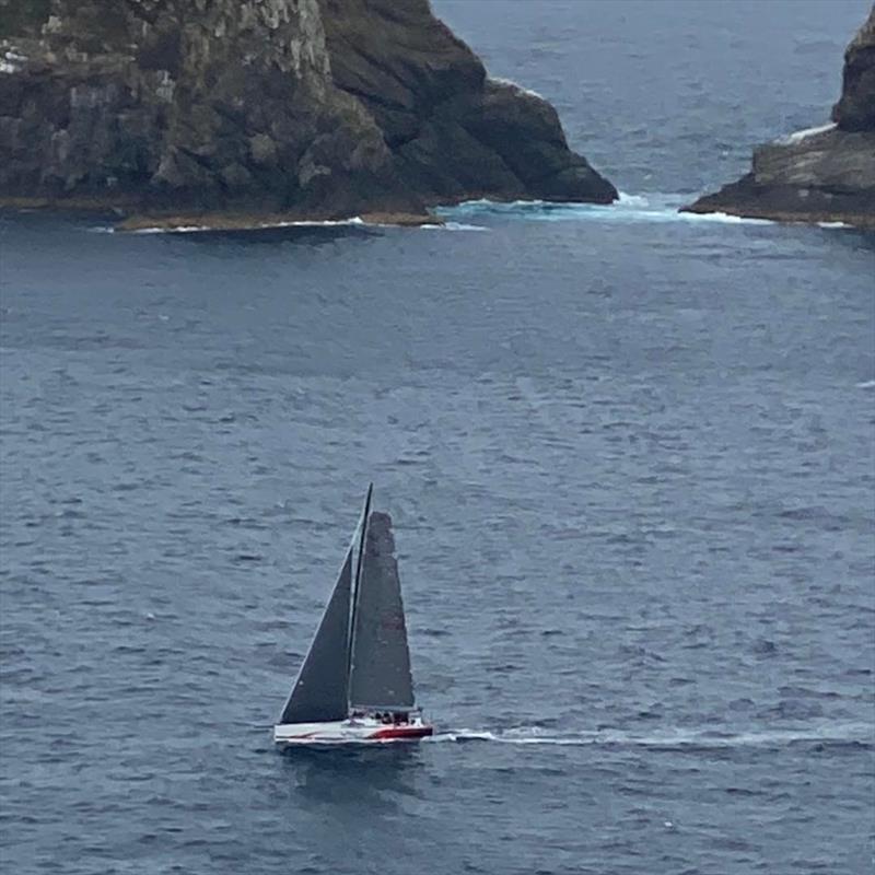
[(620, 730), (557, 734), (538, 726), (528, 726), (498, 732), (460, 728), (436, 733), (427, 740), (430, 744), (439, 742), (492, 742), (505, 745), (642, 747), (662, 750), (773, 748), (792, 744), (847, 745), (868, 749), (875, 746), (875, 727), (867, 724), (849, 723), (793, 730), (755, 730), (750, 732), (668, 730), (643, 735)]

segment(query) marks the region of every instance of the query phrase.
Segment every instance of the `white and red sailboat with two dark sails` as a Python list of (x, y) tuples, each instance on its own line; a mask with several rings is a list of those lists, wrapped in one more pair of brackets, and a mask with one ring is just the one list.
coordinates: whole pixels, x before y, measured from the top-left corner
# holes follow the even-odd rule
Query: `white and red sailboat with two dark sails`
[(434, 732), (413, 700), (392, 518), (371, 511), (373, 489), (273, 727), (277, 744), (396, 742)]

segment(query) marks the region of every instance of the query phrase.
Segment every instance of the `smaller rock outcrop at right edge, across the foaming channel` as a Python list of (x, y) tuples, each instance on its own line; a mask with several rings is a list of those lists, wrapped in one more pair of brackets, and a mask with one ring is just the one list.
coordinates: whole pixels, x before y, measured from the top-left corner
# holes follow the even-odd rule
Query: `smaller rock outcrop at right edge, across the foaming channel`
[(686, 209), (875, 228), (875, 7), (845, 51), (832, 122), (757, 148), (750, 173)]

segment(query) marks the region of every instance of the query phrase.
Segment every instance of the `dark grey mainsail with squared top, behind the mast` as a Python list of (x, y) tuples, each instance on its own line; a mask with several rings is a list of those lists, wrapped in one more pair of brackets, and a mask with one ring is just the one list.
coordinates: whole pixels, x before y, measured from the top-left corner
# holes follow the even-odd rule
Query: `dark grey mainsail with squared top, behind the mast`
[(353, 708), (413, 708), (401, 584), (394, 553), (392, 518), (375, 511), (368, 522), (352, 630), (349, 702)]

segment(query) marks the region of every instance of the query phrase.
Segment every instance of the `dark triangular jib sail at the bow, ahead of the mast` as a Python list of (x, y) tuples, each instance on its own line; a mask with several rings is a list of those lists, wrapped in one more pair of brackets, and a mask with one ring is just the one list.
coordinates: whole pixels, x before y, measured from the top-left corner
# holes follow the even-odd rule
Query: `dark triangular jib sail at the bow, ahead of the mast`
[(348, 716), (352, 552), (350, 547), (280, 723), (317, 723)]

